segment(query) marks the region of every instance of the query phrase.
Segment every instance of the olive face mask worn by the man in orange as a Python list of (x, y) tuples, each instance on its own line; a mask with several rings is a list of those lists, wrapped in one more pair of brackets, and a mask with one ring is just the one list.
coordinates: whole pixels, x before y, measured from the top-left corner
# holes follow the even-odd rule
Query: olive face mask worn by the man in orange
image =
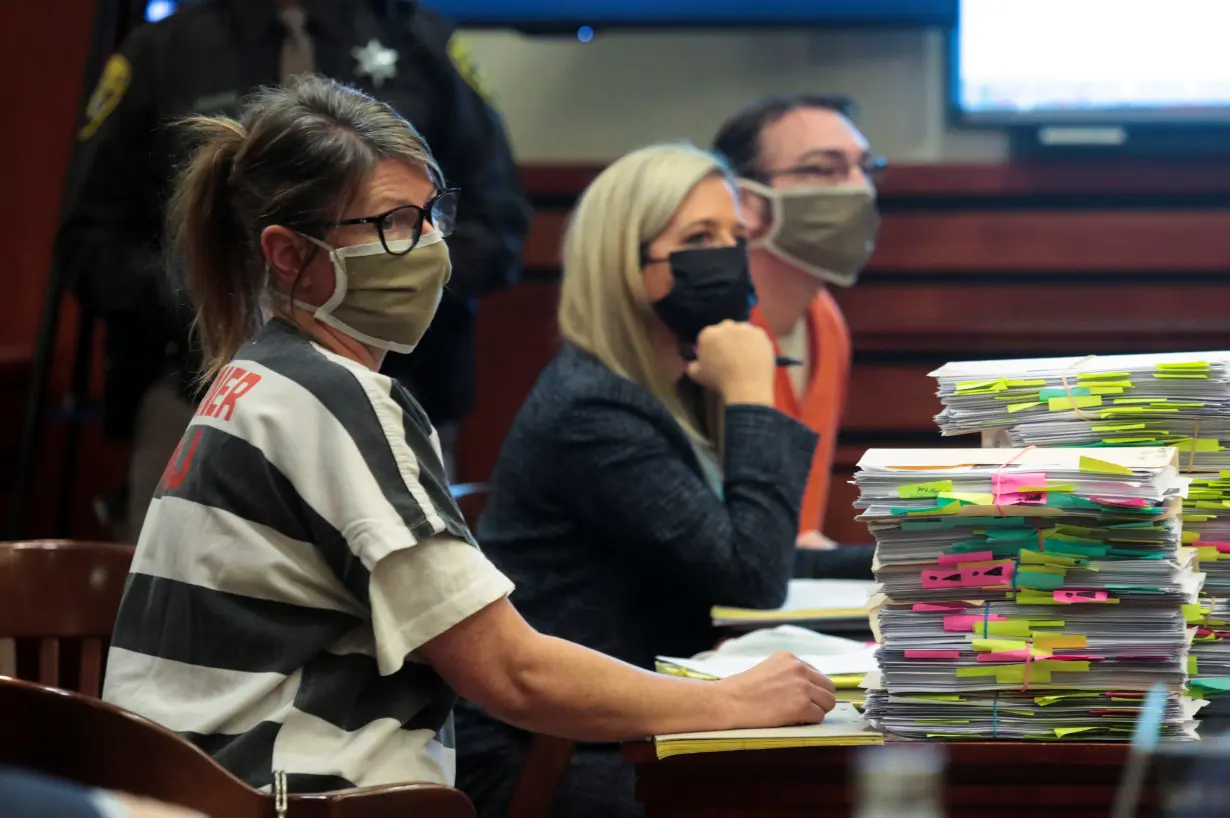
[(763, 196), (772, 224), (749, 247), (763, 247), (819, 279), (850, 287), (876, 248), (879, 214), (866, 185), (779, 189), (753, 180), (739, 187)]

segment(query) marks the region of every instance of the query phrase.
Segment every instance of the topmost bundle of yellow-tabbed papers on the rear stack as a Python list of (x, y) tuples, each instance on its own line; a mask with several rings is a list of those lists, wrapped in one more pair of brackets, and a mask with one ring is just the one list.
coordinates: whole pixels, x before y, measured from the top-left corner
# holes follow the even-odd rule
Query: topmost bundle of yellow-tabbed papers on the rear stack
[(1173, 447), (1183, 471), (1230, 469), (1230, 352), (951, 363), (945, 435), (1007, 429), (1012, 445)]

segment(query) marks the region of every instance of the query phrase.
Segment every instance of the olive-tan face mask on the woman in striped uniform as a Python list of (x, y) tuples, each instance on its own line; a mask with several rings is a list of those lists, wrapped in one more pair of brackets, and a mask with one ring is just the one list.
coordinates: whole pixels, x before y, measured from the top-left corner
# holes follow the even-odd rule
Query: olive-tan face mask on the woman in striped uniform
[[(439, 232), (424, 234), (415, 248), (402, 256), (386, 252), (379, 241), (349, 247), (330, 247), (306, 236), (328, 251), (336, 283), (333, 295), (316, 306), (295, 301), (295, 306), (315, 310), (317, 321), (370, 347), (390, 352), (411, 352), (435, 317), (440, 294), (453, 274), (449, 246)], [(401, 250), (410, 240), (390, 241)]]

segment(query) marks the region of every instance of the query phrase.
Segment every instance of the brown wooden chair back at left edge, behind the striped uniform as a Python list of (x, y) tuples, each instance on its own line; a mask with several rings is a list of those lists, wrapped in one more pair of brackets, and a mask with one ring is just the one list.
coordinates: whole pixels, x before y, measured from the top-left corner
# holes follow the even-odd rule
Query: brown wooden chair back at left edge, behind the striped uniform
[(132, 561), (112, 542), (0, 542), (0, 675), (98, 696)]

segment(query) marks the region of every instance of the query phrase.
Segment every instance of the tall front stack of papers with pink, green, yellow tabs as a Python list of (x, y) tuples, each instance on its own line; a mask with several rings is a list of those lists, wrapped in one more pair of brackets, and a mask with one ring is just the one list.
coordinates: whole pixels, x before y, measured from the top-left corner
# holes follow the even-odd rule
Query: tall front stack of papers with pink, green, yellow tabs
[(871, 450), (859, 518), (883, 598), (867, 717), (903, 738), (1129, 741), (1145, 691), (1193, 734), (1170, 448)]

